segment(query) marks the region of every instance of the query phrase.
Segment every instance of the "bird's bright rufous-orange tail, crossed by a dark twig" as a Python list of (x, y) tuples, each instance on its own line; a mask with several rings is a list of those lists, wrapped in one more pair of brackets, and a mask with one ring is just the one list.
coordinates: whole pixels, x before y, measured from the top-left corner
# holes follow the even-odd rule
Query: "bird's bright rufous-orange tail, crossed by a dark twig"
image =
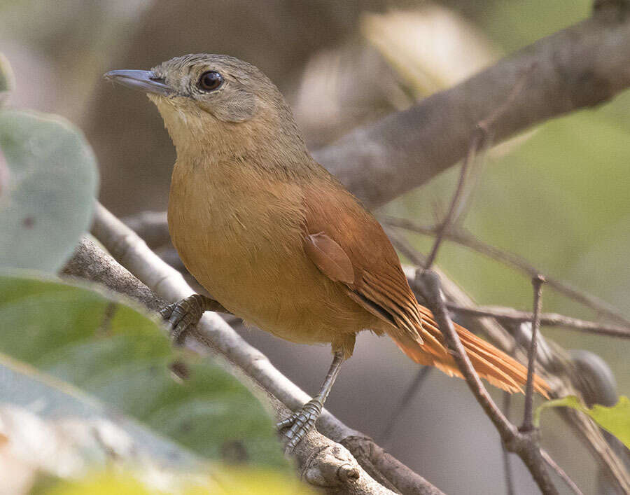
[[(422, 328), (419, 334), (423, 342), (414, 340), (409, 334), (388, 331), (394, 342), (416, 363), (435, 366), (449, 376), (462, 377), (457, 364), (444, 344), (444, 337), (433, 320), (433, 314), (420, 306)], [(457, 335), (470, 358), (472, 366), (480, 377), (494, 386), (510, 393), (522, 392), (527, 382), (527, 368), (462, 326), (453, 323)], [(549, 385), (538, 375), (534, 375), (534, 389), (542, 396), (549, 398)]]

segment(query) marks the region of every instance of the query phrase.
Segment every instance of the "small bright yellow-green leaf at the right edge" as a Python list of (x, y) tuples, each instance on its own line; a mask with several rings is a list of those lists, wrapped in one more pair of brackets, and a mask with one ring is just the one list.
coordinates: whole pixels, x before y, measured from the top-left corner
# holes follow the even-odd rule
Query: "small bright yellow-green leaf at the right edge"
[(630, 449), (630, 399), (626, 396), (620, 396), (617, 404), (612, 407), (595, 404), (591, 409), (580, 403), (580, 399), (575, 396), (549, 400), (535, 410), (535, 426), (540, 425), (540, 413), (548, 407), (571, 407), (588, 414), (593, 421), (619, 438)]

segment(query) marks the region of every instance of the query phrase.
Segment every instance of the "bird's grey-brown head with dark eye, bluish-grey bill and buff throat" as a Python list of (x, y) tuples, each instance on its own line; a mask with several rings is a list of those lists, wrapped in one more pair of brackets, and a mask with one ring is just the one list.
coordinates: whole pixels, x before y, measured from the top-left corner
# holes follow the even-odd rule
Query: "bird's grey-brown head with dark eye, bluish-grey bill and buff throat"
[(305, 151), (278, 88), (258, 68), (235, 57), (184, 55), (150, 71), (111, 71), (104, 77), (148, 94), (178, 155), (199, 146), (241, 154), (269, 141)]

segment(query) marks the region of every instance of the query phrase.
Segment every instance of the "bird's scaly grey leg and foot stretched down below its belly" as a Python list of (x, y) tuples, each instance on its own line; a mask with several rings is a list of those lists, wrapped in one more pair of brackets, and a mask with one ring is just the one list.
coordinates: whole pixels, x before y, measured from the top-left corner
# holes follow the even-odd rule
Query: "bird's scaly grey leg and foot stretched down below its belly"
[(315, 426), (315, 421), (317, 421), (319, 414), (321, 414), (323, 404), (326, 398), (328, 398), (332, 384), (335, 383), (335, 379), (337, 379), (337, 375), (339, 375), (339, 370), (343, 362), (343, 352), (335, 352), (335, 357), (332, 358), (332, 364), (330, 365), (323, 384), (321, 384), (319, 393), (304, 404), (300, 410), (297, 410), (287, 419), (280, 421), (276, 425), (279, 431), (288, 428), (288, 430), (283, 433), (283, 437), (286, 439), (287, 450), (293, 450), (295, 445), (300, 443), (300, 440)]

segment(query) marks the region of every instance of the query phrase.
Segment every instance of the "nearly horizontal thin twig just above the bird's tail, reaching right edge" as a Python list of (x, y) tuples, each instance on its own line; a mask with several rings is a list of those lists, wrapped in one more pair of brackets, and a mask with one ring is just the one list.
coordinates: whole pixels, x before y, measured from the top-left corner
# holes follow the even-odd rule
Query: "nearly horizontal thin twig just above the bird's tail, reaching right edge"
[[(480, 318), (491, 316), (492, 318), (514, 321), (514, 323), (523, 323), (531, 321), (533, 313), (519, 311), (511, 307), (498, 306), (481, 306), (481, 307), (465, 307), (447, 302), (447, 307), (455, 313), (465, 314), (468, 316), (478, 316)], [(587, 333), (596, 333), (597, 335), (609, 335), (610, 337), (630, 338), (630, 327), (619, 325), (605, 325), (596, 321), (587, 321), (565, 316), (557, 313), (541, 313), (540, 324), (545, 326), (559, 326), (563, 328), (571, 328)]]

